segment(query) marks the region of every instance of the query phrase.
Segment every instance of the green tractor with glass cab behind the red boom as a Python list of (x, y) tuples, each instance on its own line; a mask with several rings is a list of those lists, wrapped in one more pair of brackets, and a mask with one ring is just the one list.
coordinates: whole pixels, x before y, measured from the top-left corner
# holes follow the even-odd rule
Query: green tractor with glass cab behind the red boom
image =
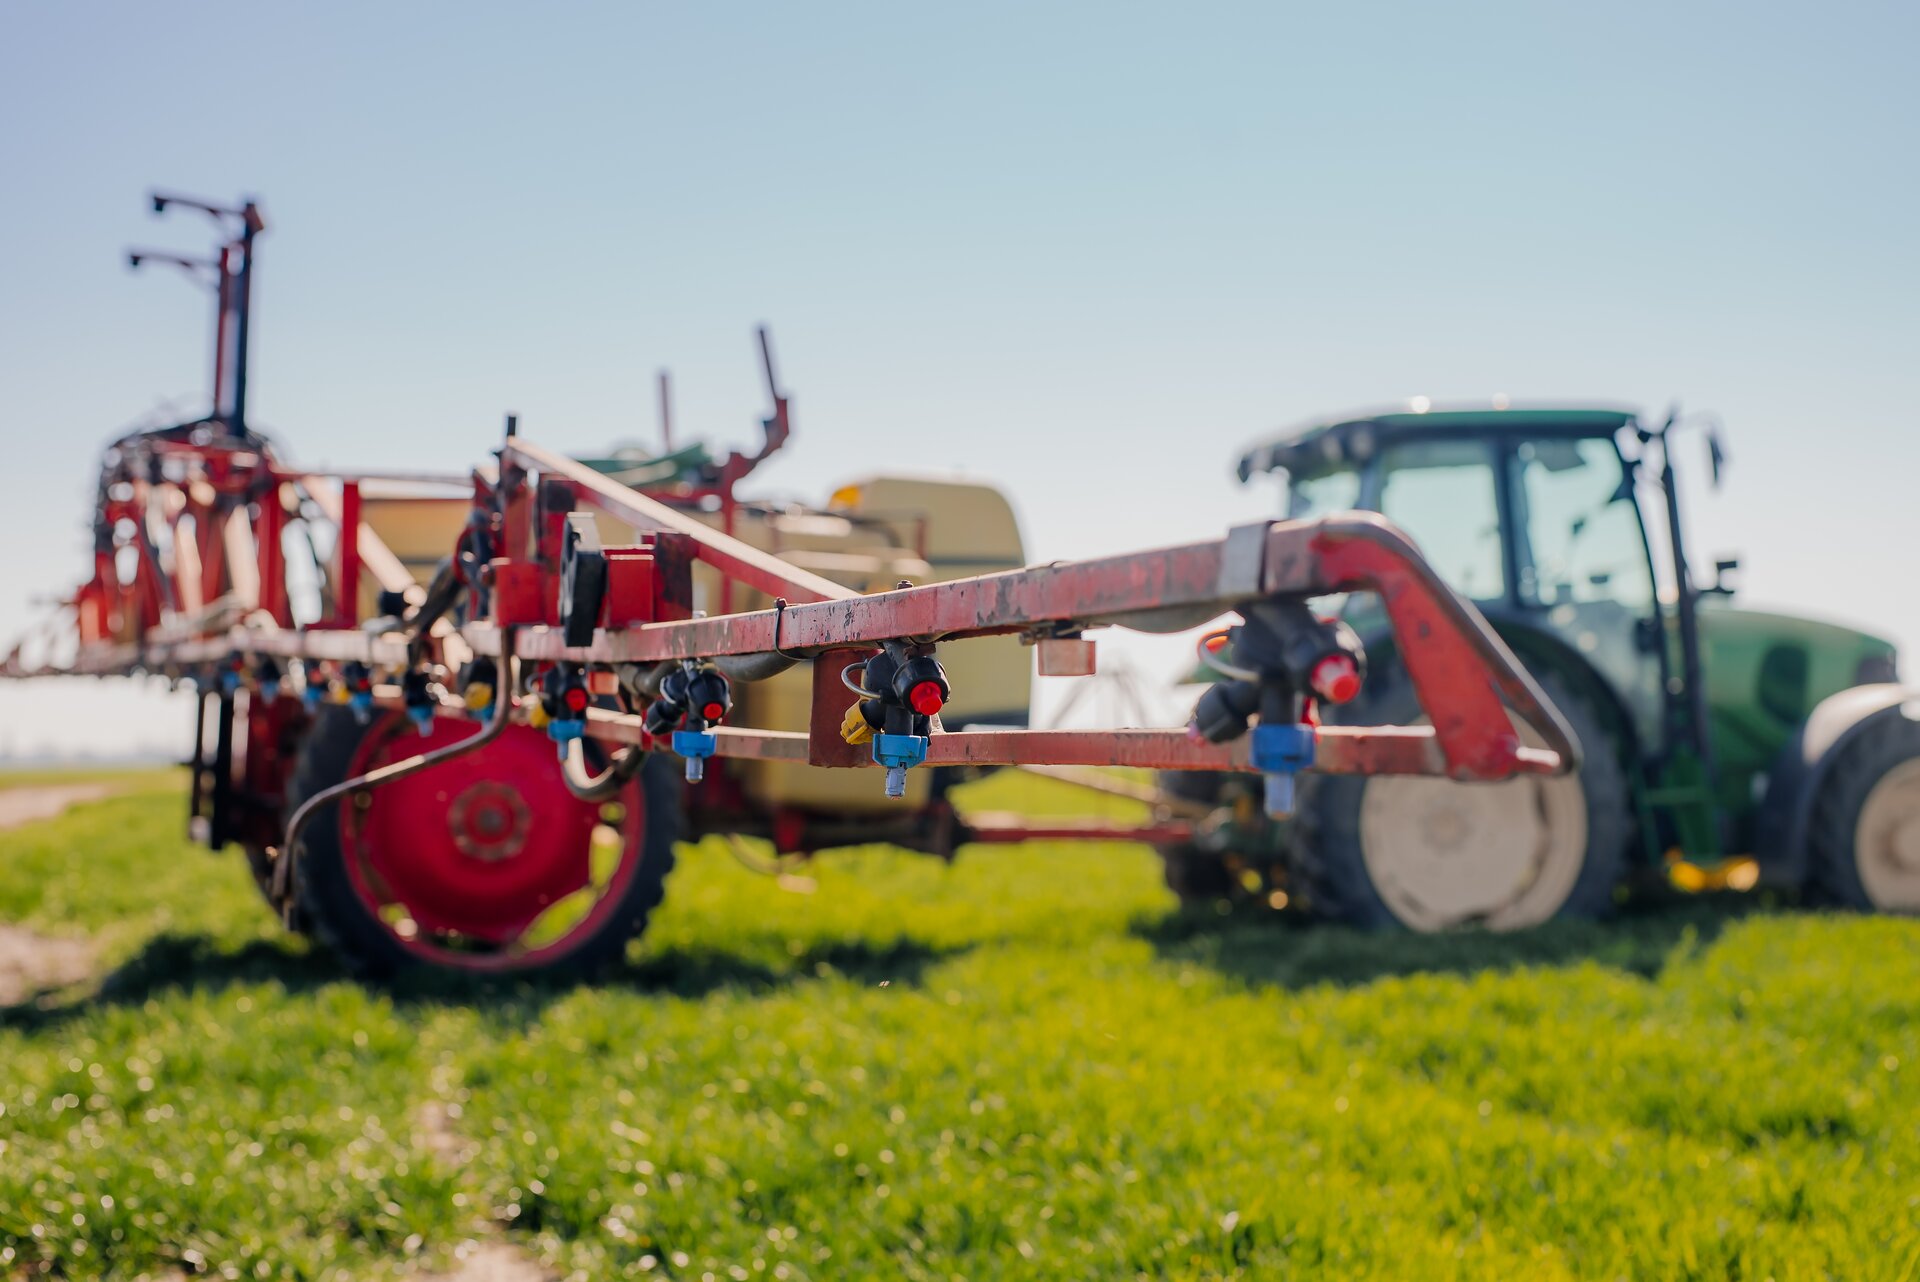
[[(1693, 883), (1920, 912), (1920, 693), (1895, 683), (1880, 637), (1734, 608), (1736, 562), (1693, 583), (1674, 426), (1417, 401), (1252, 449), (1240, 480), (1283, 472), (1290, 516), (1363, 509), (1411, 534), (1567, 714), (1584, 762), (1494, 785), (1306, 775), (1286, 821), (1235, 777), (1169, 775), (1164, 789), (1208, 816), (1162, 850), (1173, 890), (1363, 927), (1517, 929), (1601, 915), (1630, 879), (1676, 866)], [(1713, 434), (1709, 449), (1718, 482)], [(1659, 495), (1653, 522), (1642, 491)], [(1329, 605), (1371, 672), (1323, 716), (1415, 720), (1379, 603)]]

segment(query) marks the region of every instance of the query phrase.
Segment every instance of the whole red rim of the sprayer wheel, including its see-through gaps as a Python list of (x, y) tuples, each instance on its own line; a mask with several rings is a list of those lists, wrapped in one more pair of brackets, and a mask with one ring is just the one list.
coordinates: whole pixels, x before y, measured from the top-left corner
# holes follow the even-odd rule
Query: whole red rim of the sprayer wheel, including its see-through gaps
[[(382, 718), (349, 773), (478, 733), (438, 718), (420, 735)], [(340, 804), (340, 848), (355, 898), (407, 952), (461, 969), (555, 962), (612, 923), (645, 844), (639, 783), (616, 802), (582, 802), (553, 745), (511, 725), (493, 743)]]

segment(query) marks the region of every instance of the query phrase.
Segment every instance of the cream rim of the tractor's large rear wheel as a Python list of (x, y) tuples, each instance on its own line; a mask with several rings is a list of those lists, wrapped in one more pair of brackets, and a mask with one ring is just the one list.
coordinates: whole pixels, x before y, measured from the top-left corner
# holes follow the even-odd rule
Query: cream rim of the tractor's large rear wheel
[[(1523, 741), (1538, 745), (1530, 727)], [(1404, 925), (1515, 931), (1549, 919), (1586, 864), (1578, 775), (1455, 783), (1377, 775), (1359, 802), (1359, 848), (1375, 890)]]

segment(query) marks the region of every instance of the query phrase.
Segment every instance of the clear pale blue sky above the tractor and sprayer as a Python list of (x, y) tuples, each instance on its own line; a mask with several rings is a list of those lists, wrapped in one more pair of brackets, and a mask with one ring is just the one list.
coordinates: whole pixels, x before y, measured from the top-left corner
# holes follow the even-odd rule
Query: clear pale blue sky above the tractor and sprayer
[[(1684, 397), (1701, 553), (1920, 672), (1920, 10), (8, 6), (0, 635), (84, 568), (94, 455), (196, 405), (129, 242), (257, 194), (255, 418), (305, 461), (745, 441), (1002, 482), (1035, 557), (1219, 532), (1235, 447), (1413, 393)], [(19, 695), (0, 722), (23, 716)], [(17, 722), (15, 722), (17, 724)]]

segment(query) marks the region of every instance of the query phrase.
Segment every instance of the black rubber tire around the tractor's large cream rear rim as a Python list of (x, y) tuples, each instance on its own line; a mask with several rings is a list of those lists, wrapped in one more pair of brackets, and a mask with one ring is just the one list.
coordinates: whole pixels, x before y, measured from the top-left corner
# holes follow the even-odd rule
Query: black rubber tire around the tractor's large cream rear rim
[[(1636, 831), (1632, 795), (1620, 766), (1613, 737), (1594, 706), (1576, 695), (1567, 681), (1544, 676), (1540, 685), (1565, 714), (1580, 743), (1584, 764), (1578, 772), (1578, 798), (1584, 802), (1586, 848), (1578, 873), (1565, 898), (1549, 912), (1534, 915), (1605, 917), (1615, 906), (1615, 887), (1620, 881), (1628, 843)], [(1365, 693), (1338, 710), (1348, 725), (1409, 725), (1421, 718), (1419, 699), (1405, 670), (1398, 664), (1375, 670)], [(1321, 919), (1373, 931), (1446, 929), (1430, 921), (1413, 921), (1411, 914), (1396, 912), (1388, 894), (1375, 885), (1363, 848), (1361, 808), (1367, 789), (1379, 777), (1304, 773), (1298, 789), (1298, 812), (1290, 843), (1288, 883), (1304, 906)], [(1434, 787), (1496, 789), (1526, 787), (1523, 783), (1452, 783)], [(1551, 819), (1549, 819), (1551, 823)], [(1459, 921), (1457, 925), (1467, 925)], [(1501, 921), (1500, 914), (1478, 921), (1492, 929), (1517, 929), (1534, 921)]]

